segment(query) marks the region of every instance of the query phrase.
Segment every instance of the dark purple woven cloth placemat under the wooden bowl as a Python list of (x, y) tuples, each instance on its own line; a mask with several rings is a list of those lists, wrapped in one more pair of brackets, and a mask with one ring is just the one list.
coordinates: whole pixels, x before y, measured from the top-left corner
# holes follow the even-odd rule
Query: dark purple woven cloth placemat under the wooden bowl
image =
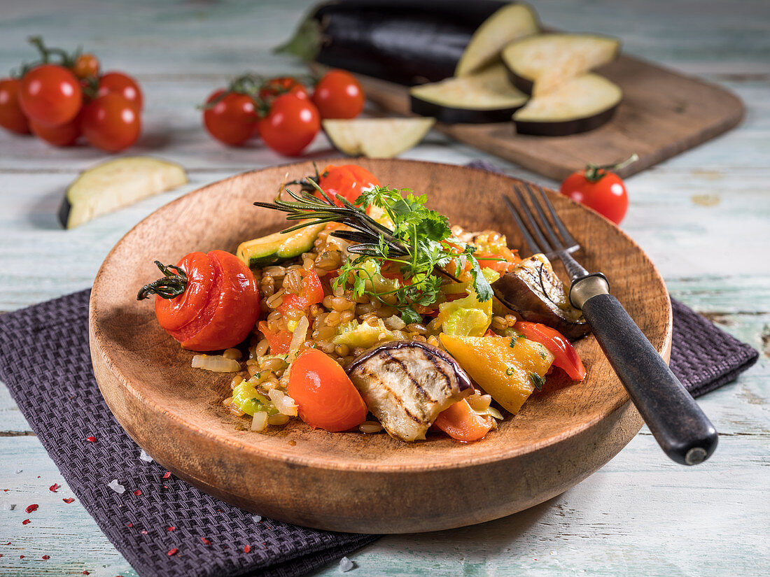
[[(69, 488), (139, 575), (293, 577), (377, 539), (256, 520), (139, 459), (93, 376), (88, 299), (89, 291), (76, 292), (0, 315), (0, 379)], [(673, 305), (671, 369), (694, 395), (756, 361), (755, 349)], [(113, 479), (125, 492), (110, 489)]]

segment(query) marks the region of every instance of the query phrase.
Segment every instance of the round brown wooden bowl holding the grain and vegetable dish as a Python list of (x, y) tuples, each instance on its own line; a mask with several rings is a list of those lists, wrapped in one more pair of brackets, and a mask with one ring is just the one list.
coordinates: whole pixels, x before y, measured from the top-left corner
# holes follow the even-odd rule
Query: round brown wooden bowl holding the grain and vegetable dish
[[(500, 202), (514, 179), (430, 162), (357, 162), (383, 184), (427, 194), (450, 222), (493, 228), (509, 245), (523, 245)], [(249, 432), (249, 422), (222, 405), (233, 375), (190, 368), (193, 353), (160, 329), (152, 301), (137, 302), (136, 292), (157, 277), (156, 259), (234, 251), (244, 239), (283, 228), (282, 214), (252, 202), (273, 198), (287, 172), (299, 178), (313, 166), (246, 172), (171, 202), (123, 237), (96, 276), (89, 329), (99, 388), (126, 432), (169, 471), (233, 505), (298, 525), (434, 531), (544, 502), (591, 475), (639, 431), (641, 417), (588, 337), (577, 343), (588, 368), (584, 382), (549, 377), (543, 392), (480, 442), (429, 435), (404, 443), (313, 430), (298, 419), (268, 434)], [(608, 275), (614, 295), (668, 359), (671, 305), (650, 259), (601, 216), (555, 192), (551, 198), (585, 247), (581, 262)]]

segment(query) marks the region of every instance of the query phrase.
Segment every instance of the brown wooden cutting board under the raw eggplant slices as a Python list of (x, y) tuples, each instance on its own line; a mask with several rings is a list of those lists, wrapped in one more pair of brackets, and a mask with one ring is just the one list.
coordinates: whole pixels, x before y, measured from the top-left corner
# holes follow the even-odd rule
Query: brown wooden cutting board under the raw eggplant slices
[[(741, 100), (717, 85), (621, 55), (596, 72), (623, 89), (614, 118), (571, 136), (517, 135), (513, 124), (436, 125), (461, 142), (562, 180), (589, 162), (611, 164), (639, 155), (618, 173), (629, 176), (728, 131), (741, 122)], [(410, 114), (408, 88), (359, 75), (367, 98), (389, 112)]]

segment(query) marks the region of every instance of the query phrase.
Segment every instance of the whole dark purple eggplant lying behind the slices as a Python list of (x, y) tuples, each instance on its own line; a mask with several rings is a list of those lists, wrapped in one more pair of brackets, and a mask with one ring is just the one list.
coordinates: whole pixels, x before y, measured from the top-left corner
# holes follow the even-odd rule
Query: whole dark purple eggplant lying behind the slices
[(457, 61), (501, 0), (332, 0), (311, 8), (291, 52), (403, 85), (454, 75)]

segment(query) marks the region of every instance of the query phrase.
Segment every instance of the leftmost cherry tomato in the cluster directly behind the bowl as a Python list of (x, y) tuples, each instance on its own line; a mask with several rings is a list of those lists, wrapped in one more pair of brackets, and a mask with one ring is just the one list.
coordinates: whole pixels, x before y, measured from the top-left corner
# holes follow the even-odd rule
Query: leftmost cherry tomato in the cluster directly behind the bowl
[(249, 95), (220, 89), (209, 96), (206, 104), (216, 98), (220, 98), (219, 102), (203, 111), (203, 125), (219, 142), (242, 145), (254, 134), (258, 120), (254, 101)]

